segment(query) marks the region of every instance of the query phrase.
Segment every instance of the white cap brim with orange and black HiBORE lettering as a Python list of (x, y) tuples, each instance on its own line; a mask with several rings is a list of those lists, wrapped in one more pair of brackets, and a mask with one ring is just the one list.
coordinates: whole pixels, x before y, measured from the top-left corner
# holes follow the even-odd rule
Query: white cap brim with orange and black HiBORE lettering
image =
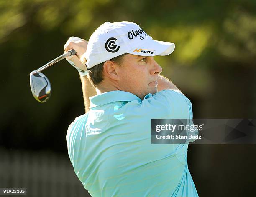
[(127, 53), (141, 56), (169, 55), (174, 51), (175, 45), (171, 42), (150, 40)]

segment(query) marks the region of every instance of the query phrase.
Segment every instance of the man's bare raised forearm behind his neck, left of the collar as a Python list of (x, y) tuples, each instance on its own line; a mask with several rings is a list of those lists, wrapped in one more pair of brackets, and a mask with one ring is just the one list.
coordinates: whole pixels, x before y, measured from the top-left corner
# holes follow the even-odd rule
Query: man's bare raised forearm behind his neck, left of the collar
[(85, 112), (87, 113), (90, 110), (89, 97), (92, 97), (97, 93), (96, 93), (95, 87), (92, 86), (87, 76), (80, 76), (80, 79), (82, 83), (82, 91), (83, 91), (83, 97), (84, 97), (84, 108), (85, 108)]

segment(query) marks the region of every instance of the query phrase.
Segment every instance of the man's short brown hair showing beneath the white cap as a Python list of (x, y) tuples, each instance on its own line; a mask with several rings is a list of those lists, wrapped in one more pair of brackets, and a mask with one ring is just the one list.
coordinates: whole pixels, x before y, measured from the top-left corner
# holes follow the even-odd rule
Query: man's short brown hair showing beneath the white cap
[[(113, 61), (115, 62), (118, 66), (120, 66), (123, 62), (123, 56), (126, 55), (128, 53), (124, 53), (122, 55), (119, 55), (117, 57), (114, 57), (112, 58), (110, 61)], [(85, 63), (86, 60), (82, 60), (82, 63)], [(106, 61), (105, 61), (106, 62)], [(91, 82), (91, 84), (94, 86), (94, 87), (97, 87), (97, 85), (100, 84), (100, 82), (102, 82), (102, 80), (104, 79), (103, 78), (103, 65), (105, 62), (102, 62), (100, 64), (97, 64), (95, 66), (93, 66), (92, 68), (90, 68), (88, 70), (88, 79), (89, 81)], [(87, 75), (87, 76), (88, 76)]]

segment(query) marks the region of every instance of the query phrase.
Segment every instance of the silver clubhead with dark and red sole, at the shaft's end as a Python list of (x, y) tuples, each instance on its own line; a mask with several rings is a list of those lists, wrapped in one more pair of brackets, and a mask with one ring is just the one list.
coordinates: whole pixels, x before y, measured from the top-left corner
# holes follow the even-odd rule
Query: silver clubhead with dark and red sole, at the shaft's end
[(30, 77), (31, 92), (39, 102), (46, 102), (51, 96), (51, 84), (47, 77), (41, 73), (32, 71)]

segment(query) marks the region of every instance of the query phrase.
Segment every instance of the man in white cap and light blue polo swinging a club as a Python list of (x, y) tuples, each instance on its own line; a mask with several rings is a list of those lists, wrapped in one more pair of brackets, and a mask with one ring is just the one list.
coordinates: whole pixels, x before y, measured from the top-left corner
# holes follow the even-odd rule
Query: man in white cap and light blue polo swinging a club
[(79, 70), (87, 112), (68, 128), (68, 154), (92, 197), (198, 196), (188, 144), (151, 144), (151, 119), (192, 119), (191, 102), (154, 60), (174, 47), (133, 22), (106, 22), (88, 44), (66, 43), (65, 51), (77, 51), (69, 62)]

